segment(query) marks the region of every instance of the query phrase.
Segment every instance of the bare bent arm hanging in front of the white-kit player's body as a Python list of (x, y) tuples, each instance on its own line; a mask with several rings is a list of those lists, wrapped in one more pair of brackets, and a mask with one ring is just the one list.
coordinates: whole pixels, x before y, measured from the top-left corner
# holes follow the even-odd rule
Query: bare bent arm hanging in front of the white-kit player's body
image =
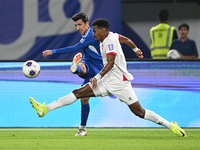
[[(107, 55), (107, 61), (108, 63), (105, 65), (105, 67), (99, 72), (99, 75), (101, 77), (103, 77), (108, 71), (110, 71), (115, 63), (115, 55), (111, 54), (111, 55)], [(92, 83), (92, 88), (95, 89), (97, 87), (97, 79), (91, 78), (90, 82)]]

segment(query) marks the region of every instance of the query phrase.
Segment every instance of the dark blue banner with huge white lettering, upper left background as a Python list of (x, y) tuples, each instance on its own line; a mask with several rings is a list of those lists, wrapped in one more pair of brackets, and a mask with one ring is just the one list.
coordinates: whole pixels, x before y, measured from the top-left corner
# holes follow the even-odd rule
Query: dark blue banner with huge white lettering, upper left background
[[(84, 12), (90, 25), (97, 18), (110, 21), (121, 33), (120, 0), (4, 0), (0, 2), (0, 59), (44, 59), (42, 51), (79, 42), (71, 17)], [(77, 53), (77, 52), (76, 52)], [(47, 59), (72, 59), (75, 53)]]

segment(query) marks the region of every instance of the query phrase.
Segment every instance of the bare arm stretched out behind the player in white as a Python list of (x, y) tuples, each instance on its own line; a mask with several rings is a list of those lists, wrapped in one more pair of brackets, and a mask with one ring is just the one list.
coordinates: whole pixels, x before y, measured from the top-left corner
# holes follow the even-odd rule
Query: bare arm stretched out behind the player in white
[[(135, 43), (133, 41), (131, 41), (129, 38), (127, 38), (123, 35), (120, 35), (119, 42), (128, 45), (131, 49), (137, 48), (137, 46), (135, 45)], [(135, 55), (138, 56), (139, 58), (144, 57), (143, 52), (140, 49), (137, 49), (137, 51), (135, 52)]]

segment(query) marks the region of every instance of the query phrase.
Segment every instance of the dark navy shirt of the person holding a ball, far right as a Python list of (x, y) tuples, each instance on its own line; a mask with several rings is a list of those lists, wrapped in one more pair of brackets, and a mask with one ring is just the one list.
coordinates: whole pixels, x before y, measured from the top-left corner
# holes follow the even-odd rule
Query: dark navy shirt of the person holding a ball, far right
[(191, 55), (198, 56), (196, 43), (194, 40), (189, 38), (185, 42), (181, 42), (180, 39), (174, 40), (172, 42), (170, 49), (176, 49), (185, 56), (191, 56)]

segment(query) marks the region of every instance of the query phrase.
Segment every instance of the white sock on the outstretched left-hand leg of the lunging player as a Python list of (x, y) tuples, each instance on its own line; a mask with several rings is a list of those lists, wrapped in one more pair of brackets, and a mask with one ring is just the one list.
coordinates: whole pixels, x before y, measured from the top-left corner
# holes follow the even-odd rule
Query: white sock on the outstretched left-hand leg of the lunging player
[(76, 96), (73, 93), (70, 93), (67, 96), (64, 96), (62, 98), (59, 98), (58, 100), (52, 102), (51, 104), (46, 105), (48, 111), (52, 111), (56, 108), (65, 106), (65, 105), (70, 105), (77, 101)]

